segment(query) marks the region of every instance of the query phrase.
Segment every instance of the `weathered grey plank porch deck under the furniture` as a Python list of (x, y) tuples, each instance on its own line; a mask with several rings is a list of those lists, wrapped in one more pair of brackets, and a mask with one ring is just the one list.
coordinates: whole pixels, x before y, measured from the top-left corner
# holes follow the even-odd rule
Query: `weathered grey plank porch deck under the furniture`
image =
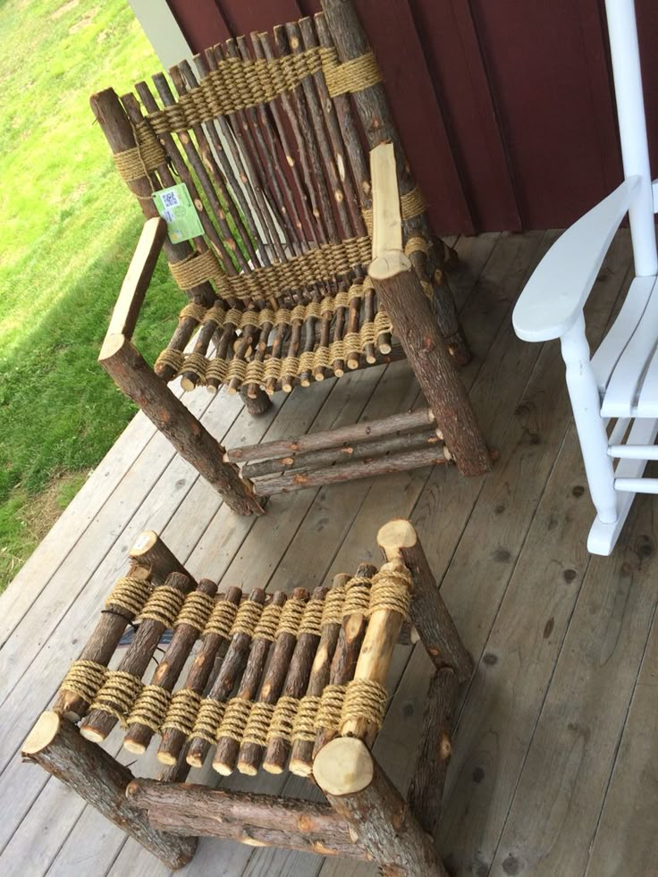
[[(637, 500), (612, 558), (587, 555), (593, 511), (557, 345), (519, 342), (510, 325), (524, 278), (555, 237), (457, 241), (454, 287), (476, 354), (464, 379), (500, 451), (485, 478), (418, 470), (280, 496), (264, 518), (239, 519), (148, 421), (133, 420), (0, 602), (4, 877), (165, 873), (18, 755), (142, 529), (160, 531), (194, 574), (290, 589), (375, 556), (376, 530), (393, 516), (417, 525), (477, 663), (438, 831), (452, 873), (658, 874), (658, 505)], [(630, 264), (620, 232), (590, 300), (593, 336), (619, 307)], [(396, 363), (279, 398), (259, 419), (236, 397), (209, 406), (198, 392), (190, 405), (235, 445), (382, 417), (417, 396), (409, 367)], [(425, 655), (400, 647), (377, 747), (401, 786), (426, 681)], [(119, 747), (115, 738), (108, 744)], [(285, 775), (261, 783), (304, 794)], [(375, 869), (203, 840), (185, 873), (365, 877)]]

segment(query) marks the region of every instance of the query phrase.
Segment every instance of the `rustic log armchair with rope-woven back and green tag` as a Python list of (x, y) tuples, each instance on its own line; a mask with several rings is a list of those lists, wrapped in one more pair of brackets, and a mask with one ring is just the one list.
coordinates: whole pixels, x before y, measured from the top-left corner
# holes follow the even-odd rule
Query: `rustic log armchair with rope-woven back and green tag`
[[(162, 105), (146, 82), (136, 86), (141, 104), (132, 94), (120, 101), (112, 89), (91, 97), (144, 214), (157, 215), (155, 191), (183, 182), (203, 229), (173, 243), (164, 223), (146, 223), (100, 362), (242, 514), (260, 511), (258, 497), (270, 493), (444, 461), (437, 427), (460, 471), (481, 474), (490, 465), (450, 361), (467, 361), (468, 348), (441, 268), (447, 250), (430, 231), (354, 9), (346, 0), (323, 5), (315, 19), (274, 30), (277, 54), (267, 34), (252, 34), (251, 46), (238, 38), (198, 55), (198, 76), (188, 63), (173, 67), (178, 97), (158, 73)], [(373, 206), (362, 138), (369, 148), (394, 146), (404, 238), (375, 231), (375, 255), (391, 244), (403, 252), (371, 277)], [(385, 199), (400, 210), (397, 189), (384, 190)], [(391, 218), (383, 203), (377, 214), (379, 223)], [(189, 303), (154, 373), (131, 335), (160, 248)], [(401, 346), (392, 343), (393, 327)], [(184, 390), (224, 385), (259, 413), (277, 390), (404, 355), (425, 392), (425, 417), (414, 412), (375, 432), (343, 429), (310, 443), (292, 438), (283, 451), (263, 443), (226, 457), (167, 388), (178, 375)], [(345, 443), (354, 445), (353, 461), (336, 466), (346, 459)], [(249, 464), (241, 475), (237, 461)], [(254, 491), (252, 478), (273, 474)]]

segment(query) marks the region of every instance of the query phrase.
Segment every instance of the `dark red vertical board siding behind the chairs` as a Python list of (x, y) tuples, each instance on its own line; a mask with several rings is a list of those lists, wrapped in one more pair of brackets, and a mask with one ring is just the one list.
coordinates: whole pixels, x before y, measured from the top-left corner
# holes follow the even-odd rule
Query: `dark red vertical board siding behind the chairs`
[[(320, 0), (167, 0), (195, 51)], [(620, 181), (603, 0), (354, 0), (442, 232), (572, 222)], [(658, 4), (637, 0), (658, 164)]]

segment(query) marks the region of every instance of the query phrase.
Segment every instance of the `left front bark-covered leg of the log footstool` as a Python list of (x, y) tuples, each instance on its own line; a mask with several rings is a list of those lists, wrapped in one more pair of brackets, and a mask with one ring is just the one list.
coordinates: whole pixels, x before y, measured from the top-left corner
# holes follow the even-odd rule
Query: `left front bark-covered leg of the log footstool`
[(197, 838), (156, 831), (147, 815), (126, 798), (126, 788), (133, 779), (129, 769), (82, 738), (74, 725), (56, 713), (42, 713), (21, 755), (62, 780), (168, 868), (181, 868), (194, 856)]

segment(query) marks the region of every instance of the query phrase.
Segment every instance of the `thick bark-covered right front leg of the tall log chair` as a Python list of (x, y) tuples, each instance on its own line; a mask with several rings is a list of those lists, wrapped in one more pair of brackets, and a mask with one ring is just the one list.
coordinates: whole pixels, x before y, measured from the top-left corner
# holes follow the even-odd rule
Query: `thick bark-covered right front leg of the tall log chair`
[(391, 250), (375, 259), (368, 274), (457, 467), (463, 475), (483, 475), (491, 468), (489, 451), (409, 259)]

